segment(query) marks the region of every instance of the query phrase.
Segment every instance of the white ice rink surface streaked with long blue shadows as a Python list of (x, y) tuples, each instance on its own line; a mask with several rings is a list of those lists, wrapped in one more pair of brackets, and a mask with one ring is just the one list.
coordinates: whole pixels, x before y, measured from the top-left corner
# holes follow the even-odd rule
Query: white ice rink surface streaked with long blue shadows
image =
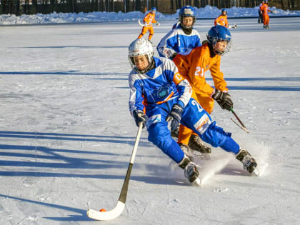
[[(159, 22), (154, 46), (176, 21)], [(299, 224), (300, 18), (271, 18), (271, 29), (229, 24), (238, 28), (221, 68), (250, 133), (217, 105), (212, 116), (269, 167), (251, 177), (232, 160), (191, 186), (143, 130), (126, 209), (102, 222), (86, 210), (113, 209), (119, 198), (137, 131), (127, 47), (141, 26), (1, 26), (0, 224)], [(202, 40), (212, 25), (196, 22)]]

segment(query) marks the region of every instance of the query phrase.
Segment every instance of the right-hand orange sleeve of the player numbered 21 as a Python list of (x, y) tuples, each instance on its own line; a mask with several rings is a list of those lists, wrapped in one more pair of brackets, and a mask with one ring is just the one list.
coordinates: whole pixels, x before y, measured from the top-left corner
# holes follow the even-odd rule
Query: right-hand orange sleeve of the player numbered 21
[(211, 76), (214, 80), (214, 86), (216, 89), (226, 92), (228, 91), (227, 89), (227, 84), (226, 81), (224, 80), (224, 74), (222, 73), (220, 69), (220, 64), (221, 64), (221, 56), (216, 56), (218, 57), (216, 59), (216, 62), (211, 66)]

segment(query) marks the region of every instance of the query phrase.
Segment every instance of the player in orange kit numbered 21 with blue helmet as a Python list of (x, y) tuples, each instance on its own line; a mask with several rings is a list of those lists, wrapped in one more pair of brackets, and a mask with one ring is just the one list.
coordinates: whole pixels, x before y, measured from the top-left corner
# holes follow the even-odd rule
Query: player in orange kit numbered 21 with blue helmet
[[(230, 111), (234, 104), (230, 94), (228, 94), (220, 64), (221, 56), (230, 49), (231, 34), (225, 26), (217, 25), (209, 30), (207, 39), (202, 46), (192, 49), (189, 54), (177, 54), (173, 61), (181, 76), (184, 76), (191, 84), (192, 97), (199, 102), (204, 110), (211, 114), (214, 109), (214, 100), (216, 100), (221, 109)], [(208, 70), (210, 70), (214, 80), (215, 89), (206, 83), (204, 73)], [(188, 148), (193, 135), (191, 129), (181, 124), (178, 137), (179, 145)], [(210, 151), (206, 153), (209, 154)]]

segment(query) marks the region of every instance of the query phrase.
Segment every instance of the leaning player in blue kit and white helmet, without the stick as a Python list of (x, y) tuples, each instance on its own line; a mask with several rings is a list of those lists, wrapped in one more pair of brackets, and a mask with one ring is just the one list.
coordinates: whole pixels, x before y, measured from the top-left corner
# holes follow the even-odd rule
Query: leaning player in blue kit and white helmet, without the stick
[(192, 129), (202, 140), (214, 147), (220, 146), (236, 155), (244, 169), (254, 174), (256, 161), (246, 149), (231, 138), (231, 134), (216, 126), (216, 121), (191, 98), (191, 86), (173, 61), (153, 56), (153, 48), (146, 39), (136, 39), (129, 45), (129, 110), (139, 126), (146, 125), (148, 140), (184, 169), (191, 183), (199, 184), (199, 171), (179, 144), (171, 138), (179, 123)]

